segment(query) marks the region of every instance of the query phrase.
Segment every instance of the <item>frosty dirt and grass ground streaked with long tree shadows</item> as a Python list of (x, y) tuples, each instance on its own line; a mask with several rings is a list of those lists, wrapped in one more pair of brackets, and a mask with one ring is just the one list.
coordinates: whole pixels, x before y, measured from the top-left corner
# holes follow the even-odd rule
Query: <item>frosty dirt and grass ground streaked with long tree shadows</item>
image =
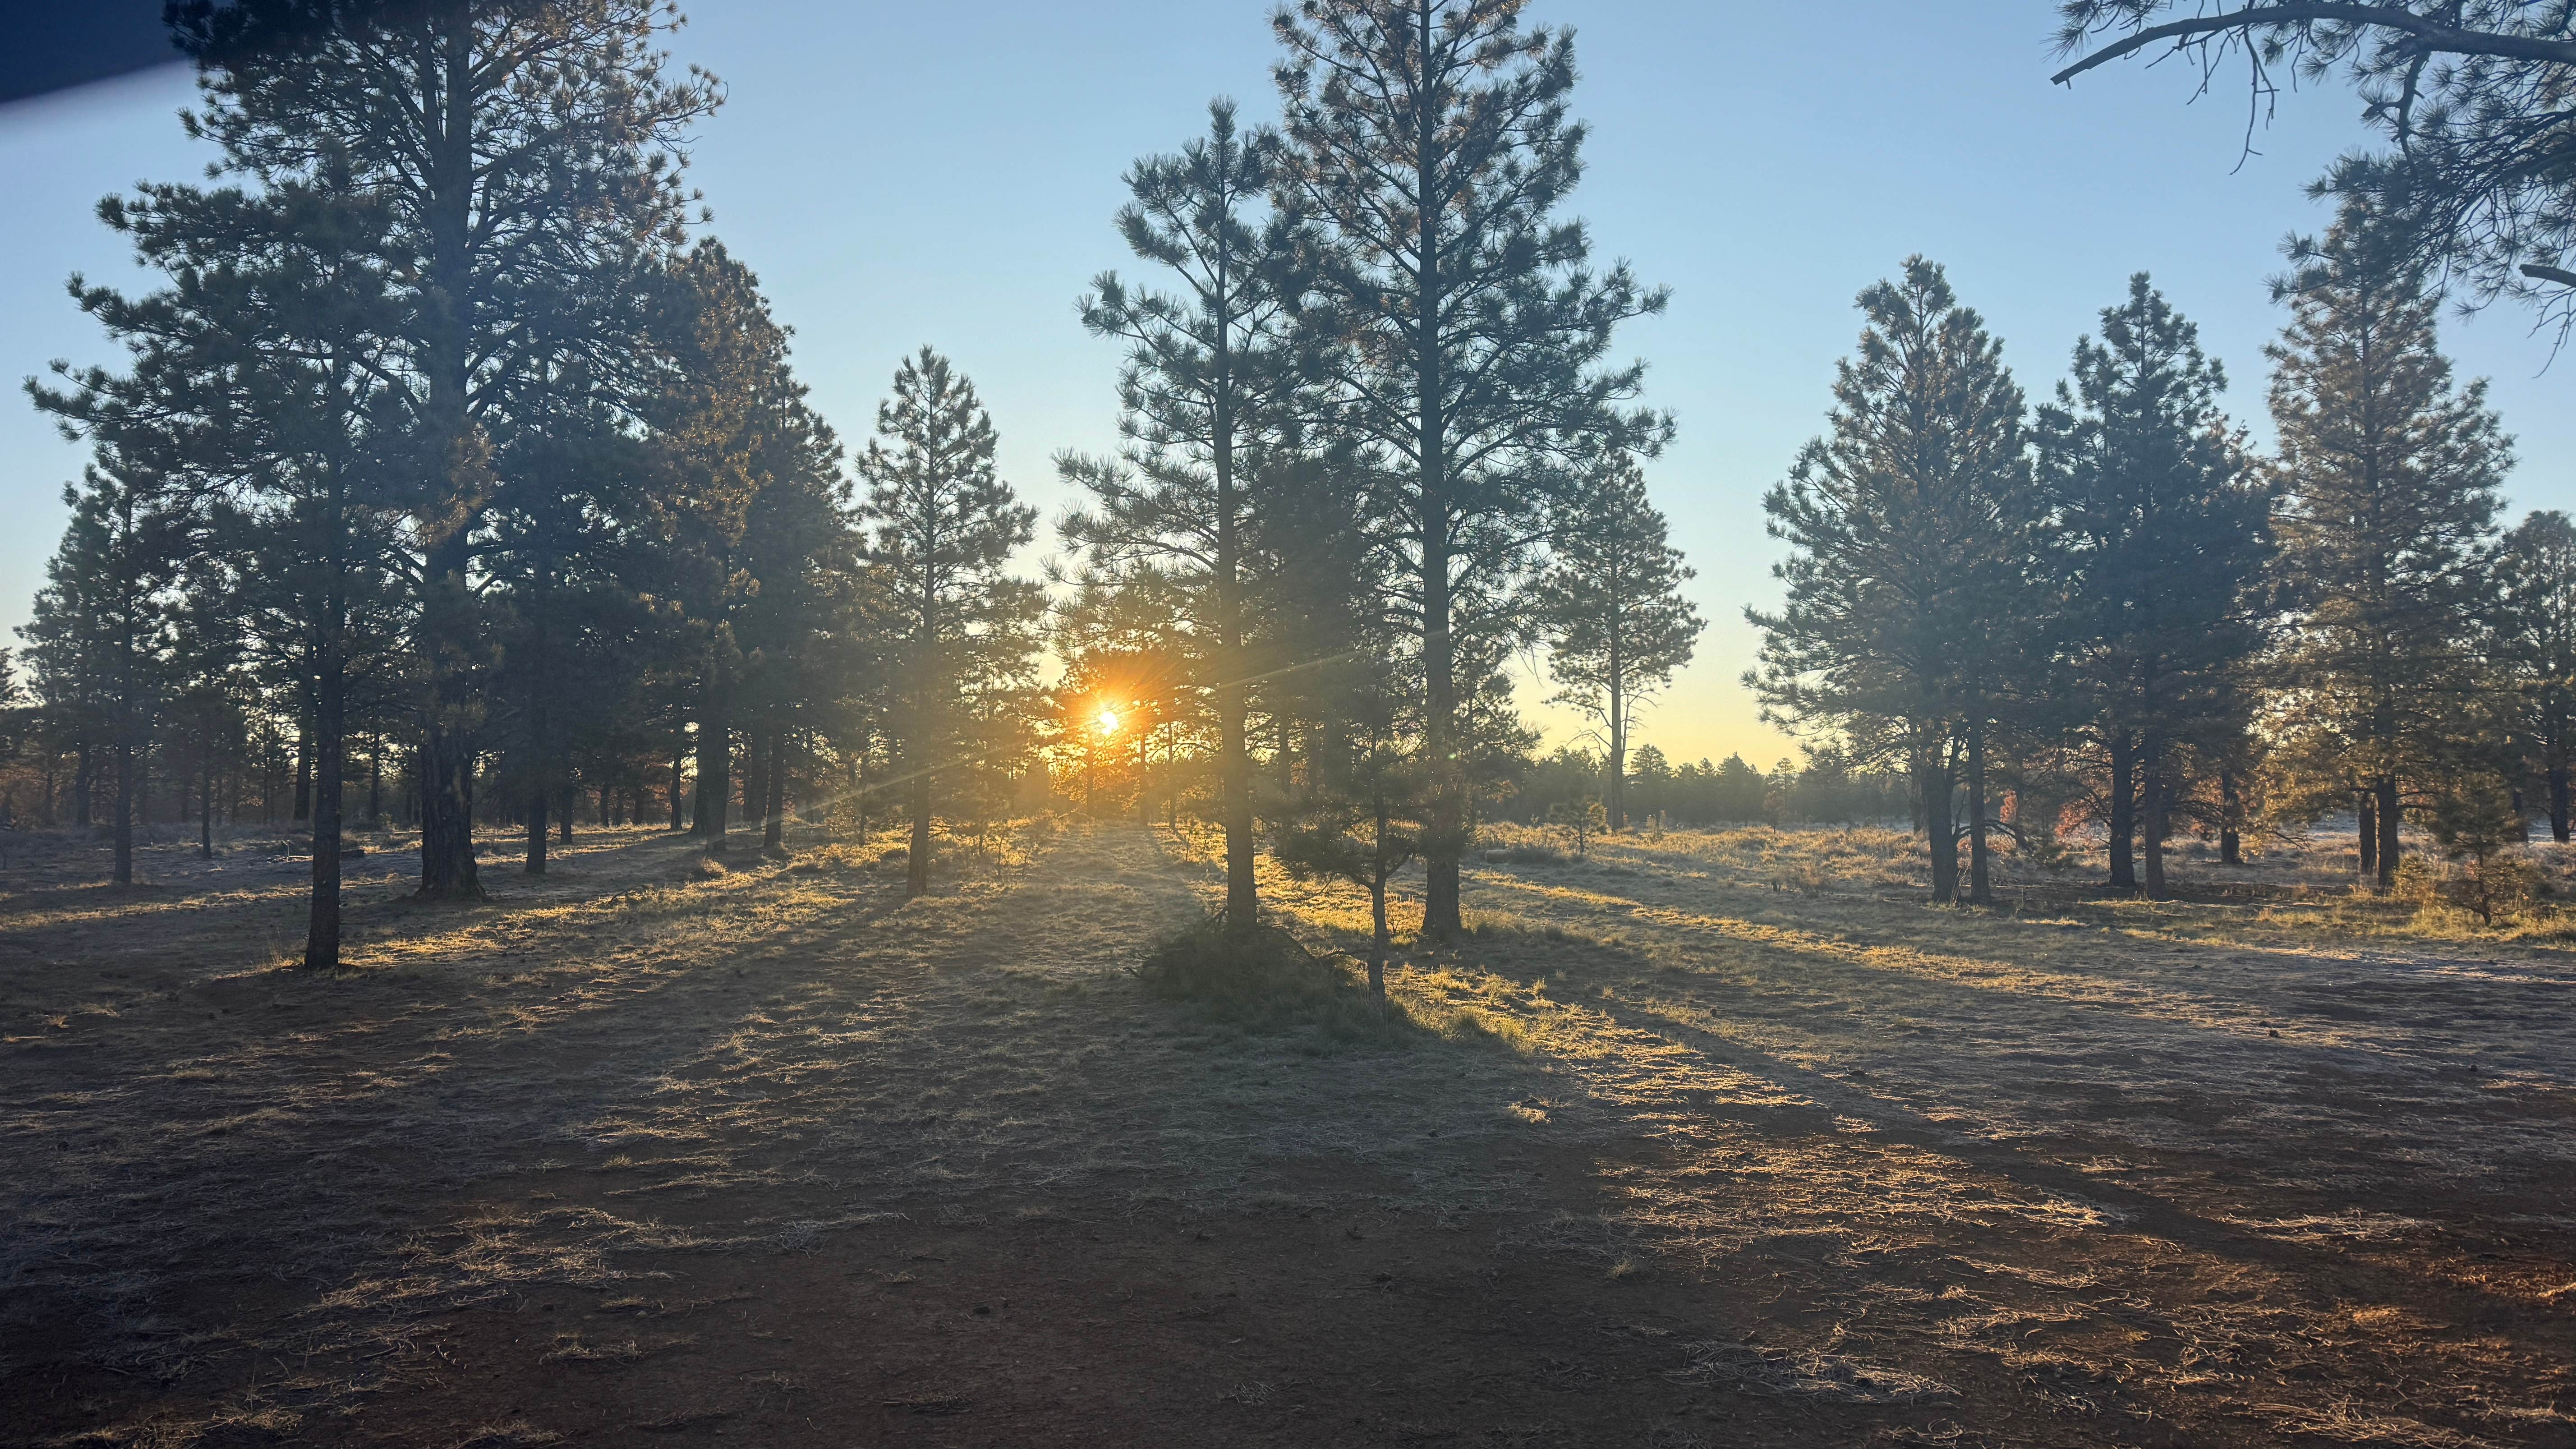
[(1133, 825), (386, 841), (340, 980), (278, 846), (0, 866), (0, 1444), (2576, 1444), (2555, 938), (1631, 835), (1391, 1047), (1149, 998)]

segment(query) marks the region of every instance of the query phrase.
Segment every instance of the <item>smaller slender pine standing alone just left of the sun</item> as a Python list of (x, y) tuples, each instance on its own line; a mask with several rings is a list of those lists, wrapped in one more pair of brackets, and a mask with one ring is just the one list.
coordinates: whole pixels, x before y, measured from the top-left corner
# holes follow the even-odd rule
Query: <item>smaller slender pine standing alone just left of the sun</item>
[(1028, 683), (1046, 598), (1007, 572), (1036, 536), (1038, 511), (994, 472), (992, 415), (948, 358), (922, 348), (894, 371), (876, 438), (858, 462), (868, 482), (871, 562), (889, 572), (899, 771), (912, 794), (904, 895), (930, 890), (930, 815), (940, 771), (966, 761), (987, 706)]

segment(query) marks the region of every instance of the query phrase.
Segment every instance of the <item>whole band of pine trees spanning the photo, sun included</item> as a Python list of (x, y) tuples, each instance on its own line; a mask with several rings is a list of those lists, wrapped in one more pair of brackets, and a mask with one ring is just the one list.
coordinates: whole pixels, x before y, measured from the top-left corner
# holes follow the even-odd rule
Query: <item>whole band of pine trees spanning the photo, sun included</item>
[[(1703, 629), (1649, 498), (1677, 420), (1618, 353), (1667, 294), (1574, 217), (1574, 36), (1525, 10), (1298, 0), (1275, 126), (1218, 101), (1128, 168), (1131, 271), (1066, 312), (1123, 358), (1118, 446), (1056, 456), (1082, 503), (1030, 575), (1041, 518), (940, 351), (855, 441), (817, 415), (696, 211), (724, 95), (667, 8), (173, 5), (222, 162), (100, 204), (155, 276), (72, 281), (124, 361), (28, 384), (93, 454), (5, 673), (0, 810), (106, 830), (118, 882), (152, 825), (309, 830), (312, 967), (353, 828), (417, 830), (420, 897), (474, 900), (487, 846), (544, 874), (587, 822), (711, 853), (891, 822), (922, 892), (992, 820), (1188, 815), (1231, 920), (1262, 851), (1381, 897), (1419, 861), (1432, 936), (1497, 820), (1893, 822), (1942, 902), (1989, 900), (2007, 841), (2159, 897), (2182, 835), (2233, 864), (2352, 820), (2370, 890), (2421, 841), (2568, 841), (2576, 526), (2501, 518), (2512, 441), (2437, 345), (2445, 299), (2563, 320), (2563, 142), (2506, 144), (2563, 134), (2530, 70), (2563, 80), (2563, 15), (2063, 5), (2069, 77), (2344, 70), (2393, 139), (2275, 278), (2277, 441), (2143, 273), (2032, 400), (1906, 258), (1765, 500), (1747, 686), (1806, 758), (1757, 768), (1638, 745)], [(2566, 54), (2439, 52), (2478, 26)], [(1535, 753), (1525, 657), (1587, 743)]]

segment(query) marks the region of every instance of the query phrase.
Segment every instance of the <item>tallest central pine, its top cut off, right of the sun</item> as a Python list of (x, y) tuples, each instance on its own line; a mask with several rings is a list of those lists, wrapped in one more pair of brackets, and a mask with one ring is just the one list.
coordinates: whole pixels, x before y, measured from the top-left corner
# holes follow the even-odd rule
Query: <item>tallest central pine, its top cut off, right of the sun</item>
[[(1494, 678), (1473, 629), (1530, 562), (1546, 462), (1651, 451), (1669, 425), (1623, 407), (1641, 364), (1613, 330), (1659, 312), (1556, 211), (1582, 178), (1566, 119), (1574, 39), (1522, 28), (1525, 0), (1298, 0), (1273, 21), (1293, 144), (1288, 191), (1324, 229), (1319, 297), (1340, 348), (1337, 428), (1388, 456), (1365, 508), (1396, 523), (1419, 639), (1432, 825), (1425, 920), (1461, 931), (1471, 730)], [(1466, 665), (1466, 668), (1463, 668)]]

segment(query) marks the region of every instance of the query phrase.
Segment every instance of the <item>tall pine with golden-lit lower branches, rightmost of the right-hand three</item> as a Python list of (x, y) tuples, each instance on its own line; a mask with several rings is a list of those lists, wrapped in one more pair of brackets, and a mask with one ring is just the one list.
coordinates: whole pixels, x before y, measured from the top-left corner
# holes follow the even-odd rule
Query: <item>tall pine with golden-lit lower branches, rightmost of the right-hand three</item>
[(2285, 732), (2362, 804), (2362, 861), (2398, 874), (2403, 810), (2439, 797), (2455, 719), (2486, 691), (2473, 642), (2512, 443), (2486, 384), (2452, 387), (2437, 299), (2385, 229), (2347, 209), (2290, 294), (2272, 358)]

